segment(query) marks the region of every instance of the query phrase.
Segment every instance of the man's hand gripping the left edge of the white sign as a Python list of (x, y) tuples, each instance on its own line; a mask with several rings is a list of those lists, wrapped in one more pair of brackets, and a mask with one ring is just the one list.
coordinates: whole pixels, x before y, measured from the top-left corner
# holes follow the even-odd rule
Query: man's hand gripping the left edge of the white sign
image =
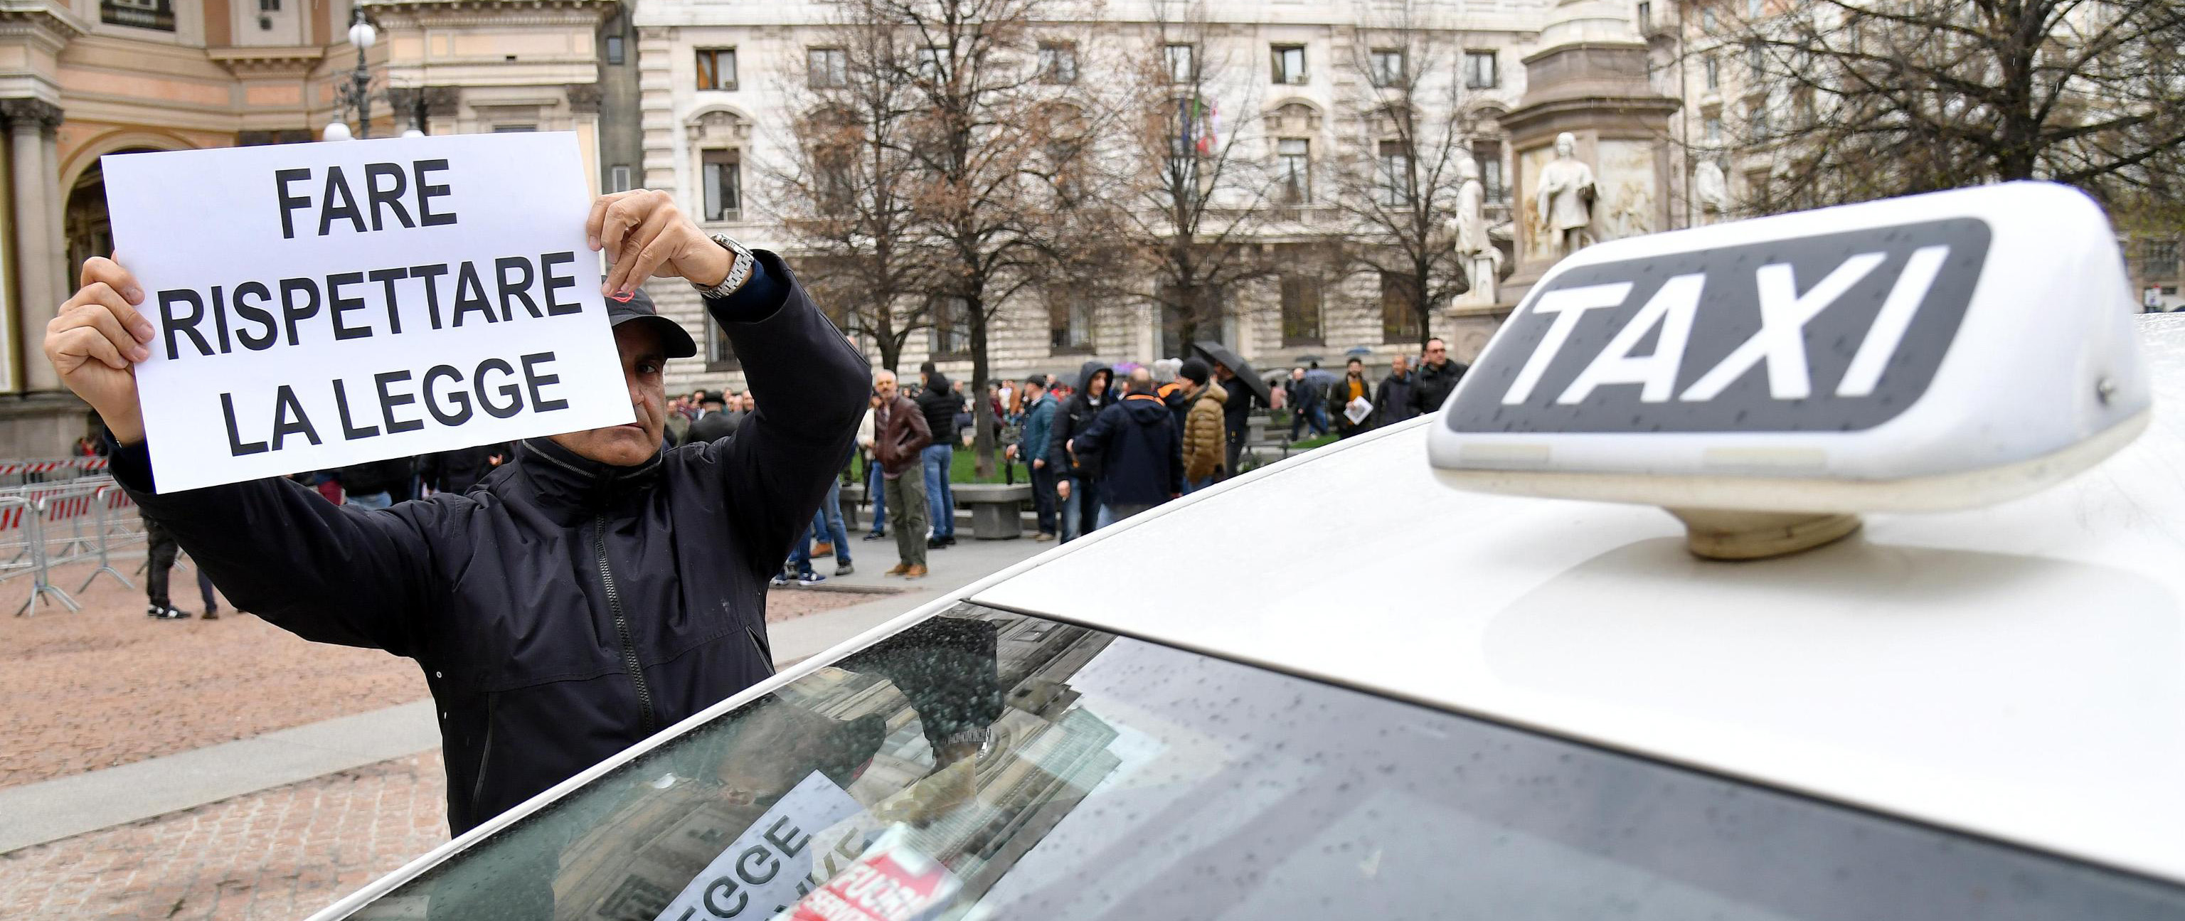
[(76, 297), (46, 323), (46, 360), (61, 384), (98, 410), (114, 441), (144, 441), (135, 391), (135, 362), (151, 358), (153, 338), (151, 321), (135, 308), (144, 303), (144, 288), (103, 255), (83, 260), (76, 284)]

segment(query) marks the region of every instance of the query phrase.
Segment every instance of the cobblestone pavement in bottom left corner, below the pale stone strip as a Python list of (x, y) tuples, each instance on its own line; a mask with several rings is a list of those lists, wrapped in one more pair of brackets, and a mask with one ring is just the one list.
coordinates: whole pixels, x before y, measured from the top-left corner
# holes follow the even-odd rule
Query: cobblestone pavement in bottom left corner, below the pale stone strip
[(448, 840), (439, 751), (0, 856), (0, 917), (293, 921)]

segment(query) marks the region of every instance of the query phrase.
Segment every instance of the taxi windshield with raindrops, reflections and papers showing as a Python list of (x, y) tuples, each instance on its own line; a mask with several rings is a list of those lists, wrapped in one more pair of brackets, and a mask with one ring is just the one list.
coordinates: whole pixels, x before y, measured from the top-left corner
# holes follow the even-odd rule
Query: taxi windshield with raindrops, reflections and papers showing
[(352, 917), (2181, 914), (2176, 886), (964, 605)]

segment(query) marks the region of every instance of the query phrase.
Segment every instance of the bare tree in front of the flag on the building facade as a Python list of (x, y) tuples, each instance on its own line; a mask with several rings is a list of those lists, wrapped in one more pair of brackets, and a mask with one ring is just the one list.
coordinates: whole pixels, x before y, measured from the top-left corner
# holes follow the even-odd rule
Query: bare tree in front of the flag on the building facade
[[(1267, 264), (1245, 247), (1267, 225), (1269, 201), (1302, 205), (1311, 175), (1267, 168), (1259, 122), (1256, 61), (1241, 74), (1226, 57), (1210, 52), (1202, 2), (1182, 7), (1169, 20), (1169, 4), (1154, 4), (1154, 31), (1130, 41), (1121, 55), (1117, 127), (1123, 151), (1110, 159), (1123, 175), (1119, 210), (1121, 240), (1132, 262), (1145, 266), (1149, 299), (1162, 330), (1176, 330), (1171, 351), (1189, 354), (1191, 343), (1219, 330), (1224, 301), (1237, 284), (1265, 277)], [(1300, 50), (1302, 61), (1302, 50)], [(1235, 105), (1221, 111), (1217, 98)]]

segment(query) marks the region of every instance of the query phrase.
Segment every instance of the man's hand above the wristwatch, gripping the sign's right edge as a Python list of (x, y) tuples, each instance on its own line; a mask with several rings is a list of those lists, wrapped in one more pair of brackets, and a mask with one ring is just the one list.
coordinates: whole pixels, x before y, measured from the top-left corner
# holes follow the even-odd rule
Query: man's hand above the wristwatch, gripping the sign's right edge
[(736, 264), (734, 253), (712, 242), (675, 205), (675, 196), (656, 190), (640, 188), (592, 199), (583, 236), (612, 262), (605, 284), (599, 288), (607, 297), (627, 297), (653, 275), (714, 286)]

